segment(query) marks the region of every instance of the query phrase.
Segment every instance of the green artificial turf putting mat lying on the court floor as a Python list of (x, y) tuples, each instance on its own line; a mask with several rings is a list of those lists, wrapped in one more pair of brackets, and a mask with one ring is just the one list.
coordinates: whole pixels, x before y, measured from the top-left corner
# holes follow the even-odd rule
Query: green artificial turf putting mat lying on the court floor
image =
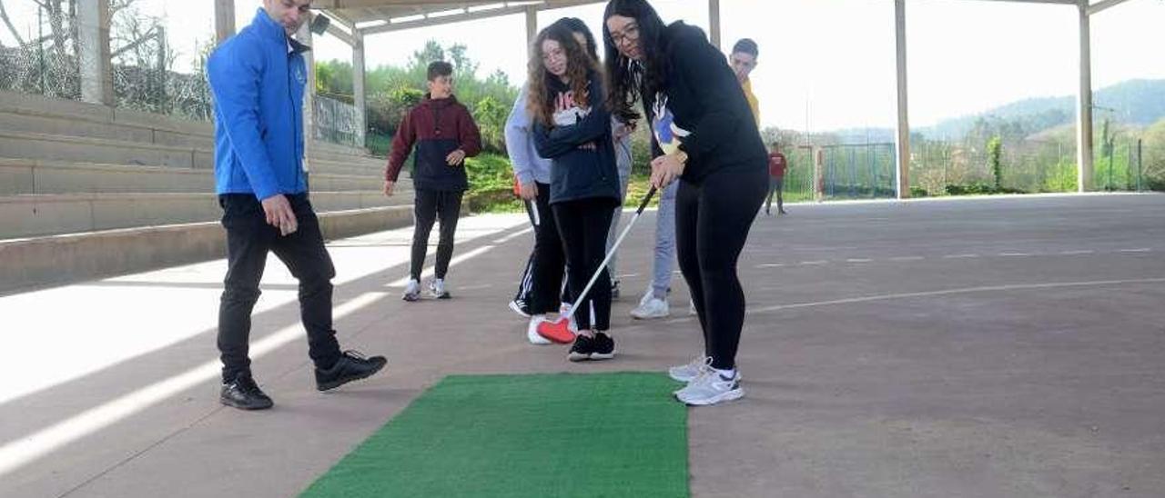
[(676, 386), (661, 374), (446, 377), (303, 497), (686, 497)]

